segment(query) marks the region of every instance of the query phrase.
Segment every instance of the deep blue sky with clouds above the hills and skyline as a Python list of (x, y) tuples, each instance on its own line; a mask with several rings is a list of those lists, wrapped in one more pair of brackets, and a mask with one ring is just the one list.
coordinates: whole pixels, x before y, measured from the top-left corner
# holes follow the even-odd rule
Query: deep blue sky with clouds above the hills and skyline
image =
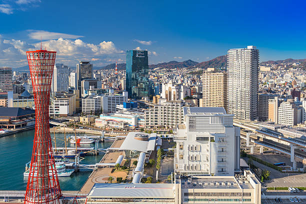
[(205, 61), (256, 45), (260, 61), (306, 58), (302, 0), (0, 0), (0, 66), (26, 65), (24, 52), (57, 51), (57, 62), (125, 62), (147, 49), (149, 63)]

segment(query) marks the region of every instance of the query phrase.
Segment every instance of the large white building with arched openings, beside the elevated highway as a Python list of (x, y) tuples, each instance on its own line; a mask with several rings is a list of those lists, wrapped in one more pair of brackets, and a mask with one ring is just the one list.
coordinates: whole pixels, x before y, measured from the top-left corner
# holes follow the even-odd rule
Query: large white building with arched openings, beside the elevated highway
[(234, 175), (240, 167), (240, 128), (223, 107), (184, 107), (177, 125), (174, 168), (183, 175)]

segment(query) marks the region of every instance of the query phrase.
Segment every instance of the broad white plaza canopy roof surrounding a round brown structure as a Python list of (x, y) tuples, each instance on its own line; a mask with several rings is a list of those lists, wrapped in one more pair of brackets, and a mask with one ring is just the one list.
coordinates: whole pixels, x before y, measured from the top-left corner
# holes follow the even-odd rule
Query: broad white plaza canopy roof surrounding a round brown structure
[[(147, 134), (149, 136), (148, 141), (141, 141), (134, 138), (135, 134)], [(136, 151), (152, 151), (155, 148), (156, 133), (143, 133), (143, 132), (128, 132), (124, 141), (120, 146), (120, 150), (136, 150)]]

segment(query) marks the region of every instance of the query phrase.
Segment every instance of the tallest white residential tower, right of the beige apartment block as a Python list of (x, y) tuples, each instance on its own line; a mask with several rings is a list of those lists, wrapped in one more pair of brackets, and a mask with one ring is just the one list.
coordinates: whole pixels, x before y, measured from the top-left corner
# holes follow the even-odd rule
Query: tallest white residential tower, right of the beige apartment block
[(235, 119), (257, 118), (258, 72), (255, 46), (227, 51), (227, 113)]

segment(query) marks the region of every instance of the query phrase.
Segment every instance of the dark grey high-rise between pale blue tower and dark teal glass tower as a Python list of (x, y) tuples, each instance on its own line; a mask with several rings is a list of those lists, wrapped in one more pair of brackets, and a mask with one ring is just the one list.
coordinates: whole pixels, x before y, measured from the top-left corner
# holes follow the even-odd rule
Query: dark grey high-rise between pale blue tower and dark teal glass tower
[(90, 61), (79, 61), (76, 64), (76, 87), (75, 89), (80, 90), (80, 82), (83, 79), (92, 78), (93, 65)]

